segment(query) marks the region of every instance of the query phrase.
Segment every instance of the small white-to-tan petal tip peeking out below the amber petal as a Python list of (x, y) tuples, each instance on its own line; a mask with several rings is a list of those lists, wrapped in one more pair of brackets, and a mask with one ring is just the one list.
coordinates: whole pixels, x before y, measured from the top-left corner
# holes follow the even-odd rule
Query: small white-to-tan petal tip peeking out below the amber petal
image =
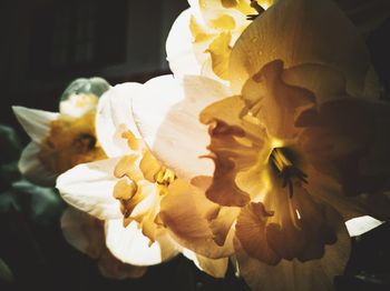
[(206, 257), (196, 254), (195, 252), (184, 249), (183, 255), (192, 260), (195, 265), (207, 274), (214, 278), (224, 278), (227, 271), (228, 258), (208, 259)]

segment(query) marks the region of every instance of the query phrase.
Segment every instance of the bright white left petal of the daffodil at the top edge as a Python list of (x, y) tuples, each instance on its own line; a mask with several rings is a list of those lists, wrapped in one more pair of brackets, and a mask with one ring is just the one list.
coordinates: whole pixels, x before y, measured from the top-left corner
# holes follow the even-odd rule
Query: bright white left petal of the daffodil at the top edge
[(167, 60), (175, 76), (201, 74), (201, 66), (193, 49), (189, 19), (191, 9), (184, 10), (172, 26), (166, 40)]

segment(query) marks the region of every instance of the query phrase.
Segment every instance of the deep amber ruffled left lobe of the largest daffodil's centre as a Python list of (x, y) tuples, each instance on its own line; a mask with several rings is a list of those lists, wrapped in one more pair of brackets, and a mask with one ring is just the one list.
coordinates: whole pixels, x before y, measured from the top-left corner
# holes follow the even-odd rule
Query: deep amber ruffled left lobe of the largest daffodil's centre
[(241, 114), (244, 109), (241, 97), (231, 97), (213, 103), (201, 113), (201, 121), (209, 127), (211, 153), (206, 157), (215, 163), (213, 182), (206, 195), (221, 205), (243, 207), (248, 203), (251, 192), (245, 190), (259, 184), (260, 175), (252, 181), (244, 179), (246, 183), (242, 184), (238, 184), (237, 177), (241, 172), (263, 167), (257, 161), (264, 153), (265, 130), (261, 124), (243, 120)]

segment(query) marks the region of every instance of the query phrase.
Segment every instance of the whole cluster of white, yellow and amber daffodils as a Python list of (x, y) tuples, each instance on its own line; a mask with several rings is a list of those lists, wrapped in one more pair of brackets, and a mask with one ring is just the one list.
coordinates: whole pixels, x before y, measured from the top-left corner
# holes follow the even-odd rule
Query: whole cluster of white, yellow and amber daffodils
[(332, 289), (345, 221), (390, 214), (390, 104), (361, 33), (331, 0), (188, 2), (173, 74), (14, 107), (19, 168), (56, 184), (65, 238), (108, 277), (183, 253), (253, 290)]

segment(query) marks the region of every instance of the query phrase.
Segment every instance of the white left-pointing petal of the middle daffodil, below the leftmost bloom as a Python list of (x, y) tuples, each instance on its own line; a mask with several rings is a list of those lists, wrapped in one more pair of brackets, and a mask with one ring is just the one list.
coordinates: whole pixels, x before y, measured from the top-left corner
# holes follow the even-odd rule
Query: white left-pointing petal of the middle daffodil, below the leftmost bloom
[(117, 159), (79, 164), (57, 179), (57, 189), (70, 205), (101, 219), (121, 218), (119, 201), (113, 197)]

